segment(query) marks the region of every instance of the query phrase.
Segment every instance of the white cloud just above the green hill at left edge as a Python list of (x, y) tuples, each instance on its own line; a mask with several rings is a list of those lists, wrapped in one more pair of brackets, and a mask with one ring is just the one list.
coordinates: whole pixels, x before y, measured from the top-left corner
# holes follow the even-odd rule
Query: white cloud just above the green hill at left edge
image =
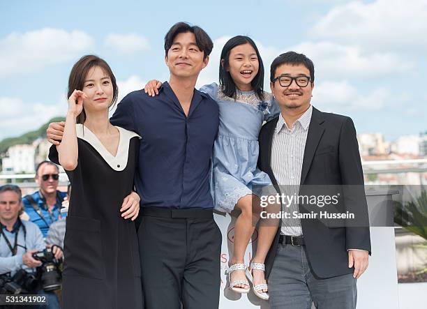
[(20, 98), (0, 98), (0, 140), (38, 129), (54, 116), (64, 114), (66, 105), (24, 103)]

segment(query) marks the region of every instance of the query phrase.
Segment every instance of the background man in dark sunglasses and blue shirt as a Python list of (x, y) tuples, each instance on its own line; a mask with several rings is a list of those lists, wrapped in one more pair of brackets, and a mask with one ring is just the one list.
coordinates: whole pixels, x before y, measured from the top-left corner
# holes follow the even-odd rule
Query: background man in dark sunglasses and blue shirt
[(52, 223), (61, 218), (61, 204), (65, 192), (57, 190), (59, 169), (50, 161), (39, 163), (36, 168), (36, 183), (40, 190), (22, 199), (24, 210), (31, 222), (40, 228), (43, 237)]

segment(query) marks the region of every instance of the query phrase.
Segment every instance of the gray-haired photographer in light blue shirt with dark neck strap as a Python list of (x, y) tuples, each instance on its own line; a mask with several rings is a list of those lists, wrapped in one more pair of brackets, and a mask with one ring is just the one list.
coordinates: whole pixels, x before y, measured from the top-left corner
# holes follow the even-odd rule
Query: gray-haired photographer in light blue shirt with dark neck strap
[[(36, 224), (20, 220), (20, 213), (22, 213), (20, 188), (15, 185), (1, 186), (0, 274), (10, 273), (10, 276), (13, 276), (21, 269), (28, 273), (35, 273), (35, 268), (42, 264), (34, 259), (32, 254), (45, 249), (43, 235)], [(55, 247), (53, 250), (60, 249)], [(38, 294), (45, 294), (49, 303), (47, 306), (40, 306), (40, 308), (60, 308), (59, 301), (54, 293), (45, 293), (42, 289)]]

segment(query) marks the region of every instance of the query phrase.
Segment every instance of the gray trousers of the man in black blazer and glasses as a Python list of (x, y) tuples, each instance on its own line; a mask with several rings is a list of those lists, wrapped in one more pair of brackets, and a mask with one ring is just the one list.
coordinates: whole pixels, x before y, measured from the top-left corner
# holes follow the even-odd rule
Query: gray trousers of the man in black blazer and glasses
[(313, 276), (304, 246), (280, 244), (269, 277), (271, 309), (354, 309), (356, 279), (352, 273), (320, 279)]

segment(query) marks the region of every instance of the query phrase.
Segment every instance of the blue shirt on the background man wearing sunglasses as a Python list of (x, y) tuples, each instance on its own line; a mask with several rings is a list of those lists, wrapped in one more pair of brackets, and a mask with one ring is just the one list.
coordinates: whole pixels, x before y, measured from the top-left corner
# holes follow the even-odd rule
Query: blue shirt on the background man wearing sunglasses
[(47, 209), (47, 204), (45, 197), (40, 193), (40, 191), (36, 191), (35, 193), (31, 194), (31, 197), (33, 197), (34, 202), (36, 202), (38, 209), (40, 209), (40, 214), (43, 216), (38, 215), (36, 210), (33, 208), (33, 205), (29, 202), (28, 199), (25, 197), (22, 198), (22, 204), (24, 204), (24, 211), (28, 214), (31, 222), (36, 223), (38, 227), (40, 228), (40, 231), (43, 234), (43, 237), (46, 237), (47, 231), (49, 230), (49, 227), (52, 223), (59, 220), (61, 216), (61, 204), (63, 201), (63, 198), (66, 197), (66, 192), (61, 192), (57, 190), (57, 202), (54, 204), (54, 207), (52, 209), (52, 213), (49, 212)]

